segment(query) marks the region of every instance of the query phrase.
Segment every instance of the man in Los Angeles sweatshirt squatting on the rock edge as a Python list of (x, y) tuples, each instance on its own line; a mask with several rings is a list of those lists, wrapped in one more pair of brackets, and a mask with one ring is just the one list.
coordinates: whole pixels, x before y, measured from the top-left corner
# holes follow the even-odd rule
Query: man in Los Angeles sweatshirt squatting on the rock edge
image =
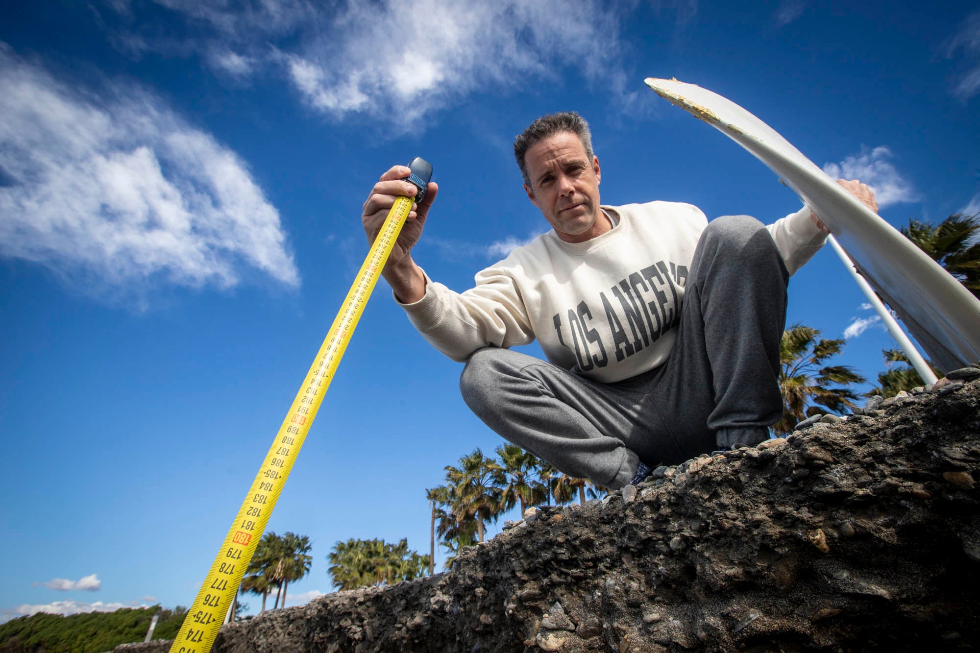
[[(599, 159), (575, 113), (528, 126), (515, 158), (551, 231), (453, 292), (411, 256), (438, 191), (430, 183), (383, 271), (421, 334), (466, 361), (473, 412), (564, 474), (612, 488), (661, 462), (764, 439), (782, 416), (786, 284), (826, 238), (816, 216), (709, 224), (689, 204), (600, 206)], [(374, 185), (369, 240), (395, 197), (415, 194), (408, 174), (396, 166)], [(841, 183), (877, 210), (867, 186)], [(508, 349), (535, 337), (548, 362)]]

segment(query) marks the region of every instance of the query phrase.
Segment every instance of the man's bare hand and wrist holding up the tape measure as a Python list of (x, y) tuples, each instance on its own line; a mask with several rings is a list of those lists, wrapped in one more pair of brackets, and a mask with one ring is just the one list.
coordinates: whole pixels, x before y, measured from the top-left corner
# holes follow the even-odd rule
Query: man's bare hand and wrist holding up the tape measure
[[(408, 180), (410, 174), (408, 166), (394, 166), (371, 188), (361, 216), (368, 243), (373, 244), (385, 218), (388, 217), (388, 212), (395, 204), (395, 199), (399, 196), (415, 196), (417, 188)], [(402, 227), (402, 232), (381, 272), (391, 284), (395, 296), (406, 304), (417, 302), (425, 294), (425, 276), (421, 268), (412, 260), (411, 251), (422, 234), (428, 210), (438, 192), (439, 186), (430, 181), (425, 190), (425, 197), (419, 204), (412, 205), (409, 219)]]

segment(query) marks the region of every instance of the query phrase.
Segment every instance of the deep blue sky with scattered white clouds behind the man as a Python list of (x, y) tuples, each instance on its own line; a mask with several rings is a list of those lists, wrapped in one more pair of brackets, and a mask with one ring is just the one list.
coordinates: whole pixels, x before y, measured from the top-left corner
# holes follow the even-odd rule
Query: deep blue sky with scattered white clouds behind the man
[[(415, 258), (458, 290), (545, 230), (511, 143), (553, 111), (591, 122), (604, 203), (797, 210), (646, 76), (743, 105), (876, 188), (894, 225), (980, 210), (974, 3), (331, 4), (0, 10), (0, 619), (193, 600), (391, 165), (432, 163)], [(501, 443), (389, 295), (382, 281), (271, 517), (314, 542), (288, 605), (330, 590), (337, 540), (426, 552), (425, 488)], [(894, 345), (863, 303), (827, 247), (793, 277), (787, 321), (848, 332), (839, 362), (873, 378)]]

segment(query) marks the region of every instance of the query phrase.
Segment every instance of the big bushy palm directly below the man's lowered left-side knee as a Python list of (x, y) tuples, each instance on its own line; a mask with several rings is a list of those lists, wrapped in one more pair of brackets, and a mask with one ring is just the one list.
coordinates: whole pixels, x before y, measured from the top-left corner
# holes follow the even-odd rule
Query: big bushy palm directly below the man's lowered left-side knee
[(484, 524), (497, 521), (502, 512), (504, 469), (487, 458), (479, 447), (460, 459), (460, 467), (446, 466), (446, 480), (453, 492), (453, 517), (463, 522), (467, 517), (476, 520), (476, 533), (483, 541)]

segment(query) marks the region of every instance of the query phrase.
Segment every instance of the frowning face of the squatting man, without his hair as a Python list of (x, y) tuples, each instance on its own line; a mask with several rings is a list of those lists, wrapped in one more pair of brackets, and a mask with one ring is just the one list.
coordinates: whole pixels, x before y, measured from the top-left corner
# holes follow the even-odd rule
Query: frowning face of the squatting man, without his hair
[(568, 242), (585, 242), (610, 230), (599, 209), (599, 159), (585, 154), (578, 136), (562, 131), (544, 138), (524, 154), (531, 185), (527, 198), (555, 232)]

